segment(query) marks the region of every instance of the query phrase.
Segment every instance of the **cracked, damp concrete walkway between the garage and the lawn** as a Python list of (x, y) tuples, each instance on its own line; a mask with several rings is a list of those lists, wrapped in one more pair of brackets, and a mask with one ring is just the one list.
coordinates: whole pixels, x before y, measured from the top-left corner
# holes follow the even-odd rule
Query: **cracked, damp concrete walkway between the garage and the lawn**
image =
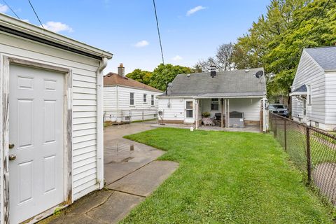
[(122, 220), (179, 167), (176, 162), (155, 161), (163, 151), (122, 138), (151, 129), (151, 125), (141, 123), (106, 128), (105, 188), (82, 197), (40, 223), (118, 223)]

